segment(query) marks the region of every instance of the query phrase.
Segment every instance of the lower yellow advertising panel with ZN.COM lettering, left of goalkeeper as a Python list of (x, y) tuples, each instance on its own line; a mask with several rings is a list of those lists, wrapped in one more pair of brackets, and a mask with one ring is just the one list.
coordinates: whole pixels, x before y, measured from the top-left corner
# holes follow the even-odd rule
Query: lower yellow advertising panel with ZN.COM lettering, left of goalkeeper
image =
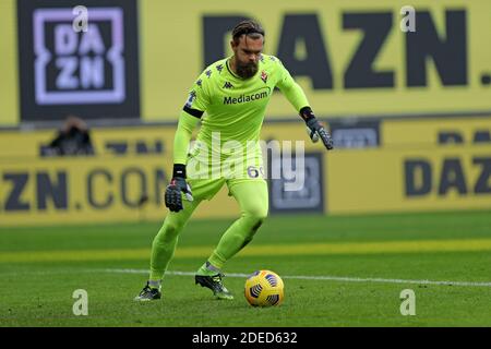
[[(0, 226), (163, 219), (169, 168), (161, 156), (2, 161)], [(227, 194), (203, 202), (194, 217), (238, 216)]]

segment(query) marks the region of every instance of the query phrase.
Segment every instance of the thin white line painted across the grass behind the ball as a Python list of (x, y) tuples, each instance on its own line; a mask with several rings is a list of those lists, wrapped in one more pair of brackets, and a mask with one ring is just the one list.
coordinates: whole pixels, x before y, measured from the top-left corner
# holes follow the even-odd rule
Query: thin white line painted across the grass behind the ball
[[(148, 274), (145, 269), (94, 269), (94, 272), (121, 273), (121, 274)], [(167, 275), (185, 275), (194, 276), (191, 272), (167, 272)], [(229, 273), (228, 277), (249, 277), (250, 274)], [(284, 279), (301, 279), (301, 280), (328, 280), (345, 282), (382, 282), (382, 284), (418, 284), (418, 285), (443, 285), (443, 286), (469, 286), (469, 287), (491, 287), (491, 282), (472, 282), (472, 281), (432, 281), (432, 280), (404, 280), (404, 279), (384, 279), (384, 278), (366, 278), (366, 277), (344, 277), (344, 276), (303, 276), (303, 275), (282, 275)]]

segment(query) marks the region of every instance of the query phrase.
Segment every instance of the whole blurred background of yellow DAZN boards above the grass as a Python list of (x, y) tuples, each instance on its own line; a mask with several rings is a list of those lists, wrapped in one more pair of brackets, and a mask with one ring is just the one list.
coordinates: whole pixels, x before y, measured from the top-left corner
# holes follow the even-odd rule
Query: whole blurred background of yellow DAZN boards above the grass
[[(262, 139), (306, 141), (309, 181), (271, 181), (272, 215), (490, 208), (491, 2), (407, 4), (0, 0), (0, 226), (161, 219), (188, 91), (246, 17), (336, 145), (275, 93)], [(237, 214), (224, 189), (195, 216)]]

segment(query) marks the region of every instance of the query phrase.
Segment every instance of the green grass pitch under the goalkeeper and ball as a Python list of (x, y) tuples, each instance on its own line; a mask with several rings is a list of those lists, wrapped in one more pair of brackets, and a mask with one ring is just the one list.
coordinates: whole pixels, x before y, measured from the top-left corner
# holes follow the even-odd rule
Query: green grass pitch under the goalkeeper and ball
[[(231, 221), (190, 221), (151, 303), (133, 297), (160, 222), (0, 228), (0, 326), (491, 326), (490, 212), (270, 217), (226, 266), (235, 300), (218, 301), (192, 274)], [(280, 306), (247, 303), (256, 269), (284, 278)], [(405, 289), (416, 315), (400, 314)]]

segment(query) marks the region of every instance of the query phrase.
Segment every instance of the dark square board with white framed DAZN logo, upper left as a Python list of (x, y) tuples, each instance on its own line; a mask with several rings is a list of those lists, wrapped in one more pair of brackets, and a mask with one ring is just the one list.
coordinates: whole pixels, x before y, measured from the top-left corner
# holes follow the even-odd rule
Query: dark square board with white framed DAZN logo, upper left
[(17, 2), (22, 121), (140, 117), (136, 1), (79, 4)]

